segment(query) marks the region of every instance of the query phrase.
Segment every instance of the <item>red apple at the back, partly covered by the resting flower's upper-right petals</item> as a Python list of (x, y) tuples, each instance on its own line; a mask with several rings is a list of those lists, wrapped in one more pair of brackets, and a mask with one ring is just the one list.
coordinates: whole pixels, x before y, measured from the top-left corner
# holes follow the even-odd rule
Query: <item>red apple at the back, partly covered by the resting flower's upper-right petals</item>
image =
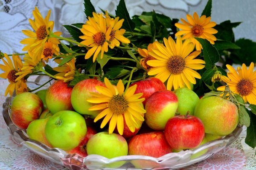
[(133, 85), (137, 85), (135, 94), (143, 93), (143, 96), (141, 96), (141, 98), (145, 98), (145, 100), (143, 101), (144, 106), (148, 100), (148, 97), (151, 96), (151, 94), (156, 91), (166, 90), (166, 86), (163, 84), (163, 82), (155, 77), (149, 77), (144, 80), (133, 82), (130, 87)]

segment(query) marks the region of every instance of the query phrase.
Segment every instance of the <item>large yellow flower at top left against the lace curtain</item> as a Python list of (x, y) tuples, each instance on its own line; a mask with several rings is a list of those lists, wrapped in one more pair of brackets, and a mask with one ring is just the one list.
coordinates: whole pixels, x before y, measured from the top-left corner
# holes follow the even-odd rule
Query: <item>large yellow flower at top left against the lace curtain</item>
[[(22, 32), (29, 38), (21, 40), (20, 43), (26, 44), (26, 46), (22, 49), (23, 51), (33, 51), (35, 55), (39, 55), (41, 54), (44, 48), (44, 43), (47, 41), (47, 39), (55, 45), (59, 44), (60, 42), (57, 38), (48, 37), (54, 26), (54, 22), (49, 21), (51, 11), (48, 11), (45, 19), (42, 17), (37, 7), (35, 7), (32, 14), (35, 17), (35, 20), (29, 19), (29, 23), (35, 32), (30, 30), (22, 30)], [(57, 31), (53, 34), (60, 36), (61, 32)]]

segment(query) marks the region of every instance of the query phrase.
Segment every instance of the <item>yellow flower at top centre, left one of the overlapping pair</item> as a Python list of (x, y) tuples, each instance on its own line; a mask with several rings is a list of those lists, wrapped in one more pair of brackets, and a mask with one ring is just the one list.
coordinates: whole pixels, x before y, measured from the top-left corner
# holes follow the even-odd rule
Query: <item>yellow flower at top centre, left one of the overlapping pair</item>
[(100, 57), (103, 57), (104, 52), (108, 51), (108, 41), (110, 40), (111, 29), (107, 29), (106, 20), (99, 15), (99, 23), (95, 19), (89, 17), (88, 21), (81, 28), (84, 34), (80, 36), (81, 44), (91, 47), (85, 54), (85, 59), (90, 58), (93, 54), (93, 62), (96, 61), (98, 54), (101, 52)]

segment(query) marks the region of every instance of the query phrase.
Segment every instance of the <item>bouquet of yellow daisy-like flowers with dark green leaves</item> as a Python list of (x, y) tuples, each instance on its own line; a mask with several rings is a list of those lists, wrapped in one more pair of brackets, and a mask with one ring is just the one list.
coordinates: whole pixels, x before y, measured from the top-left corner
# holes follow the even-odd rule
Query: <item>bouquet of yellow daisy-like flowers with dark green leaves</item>
[[(232, 28), (240, 23), (217, 25), (211, 20), (211, 0), (201, 15), (195, 12), (180, 20), (155, 11), (130, 17), (124, 0), (115, 15), (96, 13), (90, 0), (84, 0), (84, 6), (85, 23), (64, 25), (70, 37), (53, 32), (50, 11), (43, 17), (35, 7), (34, 19), (29, 19), (33, 30), (22, 30), (27, 36), (20, 42), (25, 57), (1, 53), (0, 77), (10, 82), (5, 95), (38, 90), (26, 84), (31, 75), (47, 75), (49, 82), (54, 79), (73, 89), (87, 79), (99, 81), (84, 100), (90, 107), (78, 111), (72, 103), (72, 109), (100, 122), (100, 128), (108, 127), (109, 134), (123, 135), (125, 126), (131, 132), (138, 129), (149, 112), (143, 103), (147, 89), (136, 83), (154, 77), (167, 91), (188, 88), (203, 99), (218, 96), (233, 102), (238, 124), (247, 126), (245, 142), (256, 147), (256, 59), (244, 59), (250, 40), (234, 40)], [(49, 60), (58, 66), (52, 68)], [(233, 63), (241, 67), (236, 70)]]

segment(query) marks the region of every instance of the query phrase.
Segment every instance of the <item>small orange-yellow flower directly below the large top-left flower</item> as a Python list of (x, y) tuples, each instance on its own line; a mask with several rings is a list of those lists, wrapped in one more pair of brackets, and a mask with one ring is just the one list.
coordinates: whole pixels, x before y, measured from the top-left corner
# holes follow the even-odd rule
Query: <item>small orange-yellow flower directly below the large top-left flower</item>
[(59, 51), (60, 48), (58, 48), (58, 46), (53, 44), (51, 41), (45, 42), (41, 59), (48, 62), (48, 59), (52, 59), (53, 54), (58, 55)]

